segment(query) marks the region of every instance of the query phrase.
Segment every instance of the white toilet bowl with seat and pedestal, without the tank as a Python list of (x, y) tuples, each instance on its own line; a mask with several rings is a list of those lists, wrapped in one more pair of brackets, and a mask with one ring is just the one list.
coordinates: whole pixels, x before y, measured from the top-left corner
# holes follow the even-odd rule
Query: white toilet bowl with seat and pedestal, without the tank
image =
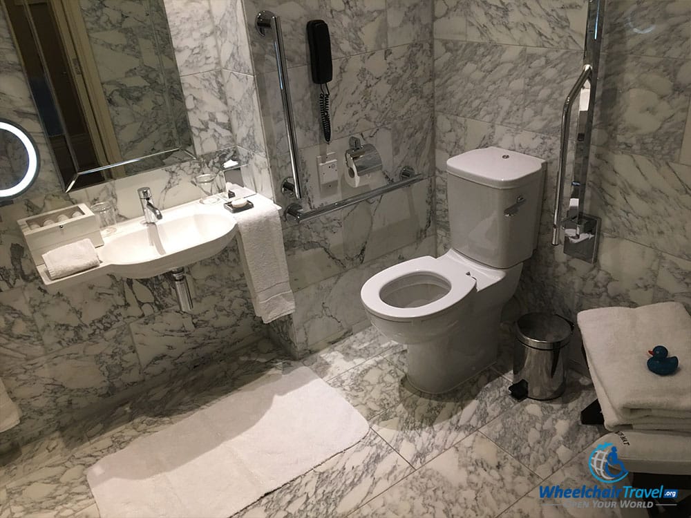
[(440, 394), (496, 360), (502, 306), (521, 269), (492, 269), (450, 250), (380, 271), (360, 298), (372, 325), (407, 345), (410, 385)]

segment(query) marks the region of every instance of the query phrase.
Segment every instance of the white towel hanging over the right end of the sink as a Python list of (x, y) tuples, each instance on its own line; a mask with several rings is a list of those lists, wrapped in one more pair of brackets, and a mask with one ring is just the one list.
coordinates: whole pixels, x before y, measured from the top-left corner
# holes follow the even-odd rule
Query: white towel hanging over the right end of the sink
[(254, 312), (269, 323), (295, 311), (295, 298), (274, 202), (261, 195), (252, 196), (251, 201), (252, 209), (234, 214), (240, 230), (240, 262)]

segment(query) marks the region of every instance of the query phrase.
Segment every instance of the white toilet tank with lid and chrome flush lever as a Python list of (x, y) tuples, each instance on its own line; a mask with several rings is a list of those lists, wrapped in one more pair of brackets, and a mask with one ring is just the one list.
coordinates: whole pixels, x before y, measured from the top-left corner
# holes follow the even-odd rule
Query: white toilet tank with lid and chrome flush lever
[(451, 247), (495, 268), (510, 268), (538, 243), (546, 162), (489, 147), (446, 161)]

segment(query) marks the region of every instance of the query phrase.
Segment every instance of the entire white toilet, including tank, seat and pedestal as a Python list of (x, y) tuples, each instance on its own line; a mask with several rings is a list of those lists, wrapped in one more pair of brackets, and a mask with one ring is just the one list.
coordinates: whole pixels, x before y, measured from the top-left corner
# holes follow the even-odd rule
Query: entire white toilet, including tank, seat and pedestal
[(502, 307), (537, 245), (545, 168), (496, 147), (451, 157), (451, 250), (401, 262), (363, 285), (372, 324), (408, 346), (417, 389), (446, 392), (496, 361)]

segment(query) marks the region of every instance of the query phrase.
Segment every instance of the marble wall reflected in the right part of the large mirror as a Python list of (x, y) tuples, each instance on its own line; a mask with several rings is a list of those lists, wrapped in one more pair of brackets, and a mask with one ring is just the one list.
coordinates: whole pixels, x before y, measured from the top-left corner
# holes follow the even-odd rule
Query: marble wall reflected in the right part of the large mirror
[(163, 1), (81, 0), (79, 8), (122, 159), (187, 147), (189, 127), (176, 120), (184, 97)]

